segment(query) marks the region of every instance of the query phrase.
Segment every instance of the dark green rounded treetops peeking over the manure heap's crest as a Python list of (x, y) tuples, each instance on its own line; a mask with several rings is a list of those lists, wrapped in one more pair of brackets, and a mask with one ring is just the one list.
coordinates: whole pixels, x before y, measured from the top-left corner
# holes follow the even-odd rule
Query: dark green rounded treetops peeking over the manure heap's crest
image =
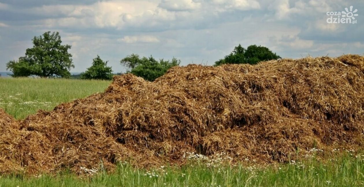
[(234, 48), (234, 51), (225, 58), (215, 62), (215, 66), (222, 64), (257, 64), (261, 61), (276, 60), (281, 58), (276, 53), (273, 53), (267, 47), (251, 45), (248, 48), (241, 47), (239, 44)]

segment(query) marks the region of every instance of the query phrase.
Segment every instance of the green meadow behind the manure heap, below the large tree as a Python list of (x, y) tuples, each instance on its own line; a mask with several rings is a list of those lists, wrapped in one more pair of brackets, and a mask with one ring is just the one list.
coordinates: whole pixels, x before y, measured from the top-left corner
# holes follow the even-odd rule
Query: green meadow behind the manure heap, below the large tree
[(103, 92), (111, 81), (39, 78), (0, 78), (0, 108), (16, 119), (39, 109)]

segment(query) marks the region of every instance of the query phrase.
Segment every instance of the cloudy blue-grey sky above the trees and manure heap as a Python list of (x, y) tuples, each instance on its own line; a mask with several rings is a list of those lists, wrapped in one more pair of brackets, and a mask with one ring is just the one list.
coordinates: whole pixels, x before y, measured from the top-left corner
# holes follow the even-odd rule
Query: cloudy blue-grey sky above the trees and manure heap
[[(345, 14), (356, 23), (328, 23), (345, 8), (357, 9)], [(124, 72), (120, 60), (132, 53), (213, 65), (238, 44), (282, 58), (363, 55), (364, 1), (0, 0), (0, 71), (47, 31), (72, 46), (71, 72), (85, 71), (97, 55)]]

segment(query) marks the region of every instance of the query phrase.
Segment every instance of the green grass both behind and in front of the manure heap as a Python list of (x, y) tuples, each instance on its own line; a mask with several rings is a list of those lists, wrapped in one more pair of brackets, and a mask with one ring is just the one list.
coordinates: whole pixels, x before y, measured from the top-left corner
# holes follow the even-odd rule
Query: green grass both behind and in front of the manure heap
[[(0, 108), (23, 119), (38, 109), (51, 110), (62, 102), (102, 92), (109, 83), (0, 78)], [(254, 164), (208, 167), (199, 160), (191, 160), (182, 168), (147, 171), (120, 163), (111, 174), (100, 167), (98, 173), (82, 178), (68, 172), (33, 177), (0, 174), (0, 187), (8, 186), (364, 186), (364, 154), (349, 151), (325, 162), (313, 157), (268, 167)]]

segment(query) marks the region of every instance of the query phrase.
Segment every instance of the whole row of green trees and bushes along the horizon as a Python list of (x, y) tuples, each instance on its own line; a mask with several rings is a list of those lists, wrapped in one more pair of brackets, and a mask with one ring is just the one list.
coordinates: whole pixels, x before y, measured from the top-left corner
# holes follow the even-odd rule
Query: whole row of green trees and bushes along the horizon
[[(41, 36), (32, 39), (33, 47), (25, 51), (25, 56), (17, 61), (9, 61), (7, 70), (12, 71), (12, 77), (28, 77), (31, 75), (39, 77), (60, 77), (70, 78), (71, 68), (74, 68), (72, 55), (68, 52), (70, 45), (63, 45), (59, 32), (45, 32)], [(269, 61), (281, 58), (269, 48), (251, 45), (246, 49), (240, 44), (223, 59), (215, 62), (214, 66), (223, 64), (257, 64), (261, 61)], [(112, 68), (107, 66), (108, 61), (103, 61), (99, 55), (93, 59), (92, 65), (80, 74), (81, 79), (104, 79), (110, 80), (113, 77)], [(171, 60), (156, 60), (152, 56), (140, 57), (131, 54), (120, 61), (126, 67), (126, 73), (132, 73), (146, 80), (154, 81), (166, 71), (179, 66), (181, 61), (176, 58)]]

